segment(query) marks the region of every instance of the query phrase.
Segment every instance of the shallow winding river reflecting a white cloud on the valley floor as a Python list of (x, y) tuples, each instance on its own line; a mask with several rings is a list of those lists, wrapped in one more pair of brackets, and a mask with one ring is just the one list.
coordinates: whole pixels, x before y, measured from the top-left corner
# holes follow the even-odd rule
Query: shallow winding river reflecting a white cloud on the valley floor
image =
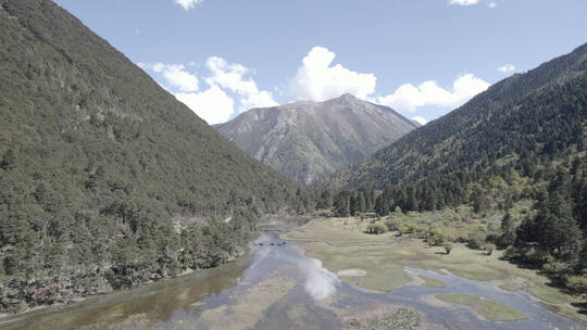
[[(215, 269), (83, 302), (41, 308), (0, 319), (1, 329), (340, 329), (344, 320), (405, 306), (419, 312), (419, 329), (585, 329), (523, 292), (453, 275), (407, 270), (440, 280), (445, 288), (414, 283), (388, 293), (358, 290), (304, 256), (302, 243), (279, 239), (268, 228), (240, 259)], [(285, 242), (285, 243), (284, 243)], [(523, 312), (528, 319), (491, 322), (472, 309), (430, 296), (470, 293)]]

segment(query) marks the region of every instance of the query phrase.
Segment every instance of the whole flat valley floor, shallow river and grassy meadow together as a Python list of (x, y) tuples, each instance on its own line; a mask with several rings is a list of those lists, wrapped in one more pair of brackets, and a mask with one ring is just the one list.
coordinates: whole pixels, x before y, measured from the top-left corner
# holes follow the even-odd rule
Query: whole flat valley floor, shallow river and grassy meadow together
[[(364, 233), (366, 223), (315, 218), (299, 228), (263, 227), (250, 253), (234, 263), (33, 310), (2, 320), (0, 328), (583, 328), (550, 310), (565, 310), (566, 295), (544, 305), (524, 289), (500, 289), (520, 280), (541, 285), (545, 278), (500, 261), (499, 253), (458, 246), (446, 255), (421, 240)], [(475, 269), (467, 269), (473, 263)]]

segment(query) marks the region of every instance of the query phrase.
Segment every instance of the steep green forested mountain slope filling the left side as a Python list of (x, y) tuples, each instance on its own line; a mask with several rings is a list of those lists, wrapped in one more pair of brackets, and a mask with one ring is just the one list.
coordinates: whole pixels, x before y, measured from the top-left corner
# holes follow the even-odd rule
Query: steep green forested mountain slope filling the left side
[(0, 310), (217, 265), (296, 194), (53, 2), (0, 30)]

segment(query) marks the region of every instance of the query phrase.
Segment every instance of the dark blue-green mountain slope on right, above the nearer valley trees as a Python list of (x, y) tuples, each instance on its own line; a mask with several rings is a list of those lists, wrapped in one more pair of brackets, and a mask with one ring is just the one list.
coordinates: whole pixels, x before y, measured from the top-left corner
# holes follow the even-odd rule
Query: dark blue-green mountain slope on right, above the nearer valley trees
[(541, 164), (582, 152), (587, 45), (491, 86), (463, 106), (335, 173), (332, 187), (383, 189), (455, 172)]

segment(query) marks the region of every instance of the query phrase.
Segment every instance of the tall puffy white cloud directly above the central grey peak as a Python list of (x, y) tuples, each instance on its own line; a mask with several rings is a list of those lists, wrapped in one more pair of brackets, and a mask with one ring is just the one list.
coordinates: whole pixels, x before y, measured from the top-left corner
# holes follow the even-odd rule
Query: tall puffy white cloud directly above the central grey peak
[(335, 56), (326, 48), (312, 48), (289, 84), (291, 94), (297, 99), (324, 101), (346, 92), (366, 99), (375, 91), (375, 75), (357, 73), (340, 64), (330, 66)]

